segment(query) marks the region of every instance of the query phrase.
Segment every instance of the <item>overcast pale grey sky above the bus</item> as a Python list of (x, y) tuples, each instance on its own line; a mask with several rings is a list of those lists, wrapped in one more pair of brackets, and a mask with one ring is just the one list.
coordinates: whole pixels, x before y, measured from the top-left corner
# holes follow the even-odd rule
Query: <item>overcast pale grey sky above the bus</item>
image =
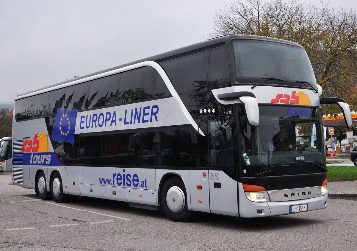
[[(203, 41), (225, 2), (0, 0), (0, 103)], [(330, 5), (357, 9), (356, 0)]]

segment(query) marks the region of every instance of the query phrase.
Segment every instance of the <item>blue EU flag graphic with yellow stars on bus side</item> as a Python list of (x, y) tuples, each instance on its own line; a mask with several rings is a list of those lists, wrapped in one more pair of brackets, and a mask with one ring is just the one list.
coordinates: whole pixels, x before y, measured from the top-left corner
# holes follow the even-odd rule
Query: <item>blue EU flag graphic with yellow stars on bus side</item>
[(73, 146), (76, 129), (77, 110), (57, 109), (52, 139), (58, 142), (70, 142)]

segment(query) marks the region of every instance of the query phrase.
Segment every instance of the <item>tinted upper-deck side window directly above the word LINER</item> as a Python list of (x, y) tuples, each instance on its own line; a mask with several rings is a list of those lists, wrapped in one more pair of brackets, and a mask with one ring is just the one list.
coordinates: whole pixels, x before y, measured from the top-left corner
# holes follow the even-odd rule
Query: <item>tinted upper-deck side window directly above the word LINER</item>
[(120, 74), (119, 103), (153, 98), (156, 73), (151, 67), (143, 67)]

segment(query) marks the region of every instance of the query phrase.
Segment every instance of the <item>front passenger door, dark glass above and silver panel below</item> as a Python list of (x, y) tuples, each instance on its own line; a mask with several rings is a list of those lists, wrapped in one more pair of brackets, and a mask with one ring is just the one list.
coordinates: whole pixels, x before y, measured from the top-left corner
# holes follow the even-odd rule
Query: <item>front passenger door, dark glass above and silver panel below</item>
[(212, 213), (238, 215), (233, 116), (208, 119), (208, 165)]

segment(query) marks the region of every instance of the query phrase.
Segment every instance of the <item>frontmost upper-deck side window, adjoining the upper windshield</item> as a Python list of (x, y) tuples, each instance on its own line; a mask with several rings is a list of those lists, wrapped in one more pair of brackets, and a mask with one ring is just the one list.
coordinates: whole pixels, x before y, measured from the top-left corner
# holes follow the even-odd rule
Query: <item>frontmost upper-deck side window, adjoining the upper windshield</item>
[(207, 80), (209, 90), (231, 85), (228, 51), (226, 46), (210, 50)]

